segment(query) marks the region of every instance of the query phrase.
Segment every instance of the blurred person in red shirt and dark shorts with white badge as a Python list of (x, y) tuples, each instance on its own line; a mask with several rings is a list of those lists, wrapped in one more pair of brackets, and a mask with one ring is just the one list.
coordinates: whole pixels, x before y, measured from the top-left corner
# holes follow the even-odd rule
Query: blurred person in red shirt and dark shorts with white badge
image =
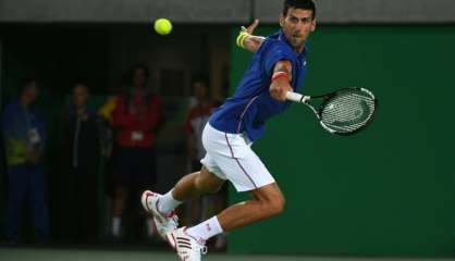
[[(126, 200), (138, 198), (142, 188), (156, 185), (155, 144), (162, 119), (161, 100), (147, 86), (148, 67), (143, 64), (133, 66), (130, 78), (130, 86), (118, 98), (112, 121), (118, 146), (115, 171), (119, 176), (111, 231), (114, 237), (121, 236), (125, 208), (136, 210), (136, 204), (128, 206)], [(148, 235), (152, 236), (151, 219), (146, 224)]]

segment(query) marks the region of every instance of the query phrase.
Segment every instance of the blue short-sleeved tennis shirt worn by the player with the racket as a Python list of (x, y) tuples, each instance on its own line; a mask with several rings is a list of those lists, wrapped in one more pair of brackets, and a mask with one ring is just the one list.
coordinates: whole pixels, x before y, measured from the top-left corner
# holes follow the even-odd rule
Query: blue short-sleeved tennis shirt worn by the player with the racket
[(282, 60), (292, 62), (291, 86), (298, 91), (307, 75), (307, 51), (305, 46), (304, 51), (297, 53), (281, 29), (267, 37), (254, 54), (234, 95), (210, 116), (210, 125), (224, 133), (246, 132), (251, 141), (262, 137), (266, 121), (291, 104), (290, 101), (278, 101), (270, 96), (274, 65)]

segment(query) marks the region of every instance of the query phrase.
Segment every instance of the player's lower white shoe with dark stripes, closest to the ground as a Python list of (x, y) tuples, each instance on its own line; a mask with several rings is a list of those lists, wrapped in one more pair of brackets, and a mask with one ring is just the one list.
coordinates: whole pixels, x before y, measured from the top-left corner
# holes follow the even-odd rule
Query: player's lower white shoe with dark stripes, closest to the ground
[(182, 261), (200, 261), (200, 256), (207, 253), (205, 243), (186, 234), (185, 226), (168, 233), (168, 241), (175, 248)]

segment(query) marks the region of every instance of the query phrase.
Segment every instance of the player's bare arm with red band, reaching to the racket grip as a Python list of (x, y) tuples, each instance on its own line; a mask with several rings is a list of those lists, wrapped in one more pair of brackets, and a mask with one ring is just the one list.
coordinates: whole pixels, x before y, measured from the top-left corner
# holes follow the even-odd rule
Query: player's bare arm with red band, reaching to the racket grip
[(293, 91), (291, 80), (292, 63), (287, 60), (279, 61), (273, 67), (272, 83), (269, 88), (270, 95), (279, 101), (285, 101), (287, 91)]

